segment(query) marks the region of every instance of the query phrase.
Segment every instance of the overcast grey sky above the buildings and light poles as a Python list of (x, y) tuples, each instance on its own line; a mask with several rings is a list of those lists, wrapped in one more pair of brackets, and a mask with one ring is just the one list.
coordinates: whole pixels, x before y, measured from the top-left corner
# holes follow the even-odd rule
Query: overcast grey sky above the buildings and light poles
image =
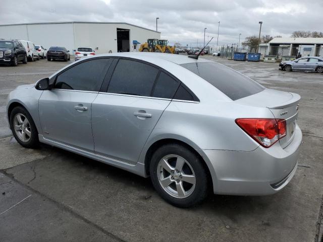
[[(289, 37), (295, 30), (322, 31), (323, 0), (1, 0), (0, 24), (102, 21), (156, 29), (170, 43), (196, 46), (213, 36), (216, 44), (237, 43), (261, 34)], [(1, 34), (1, 33), (0, 33)], [(210, 37), (209, 37), (210, 38)]]

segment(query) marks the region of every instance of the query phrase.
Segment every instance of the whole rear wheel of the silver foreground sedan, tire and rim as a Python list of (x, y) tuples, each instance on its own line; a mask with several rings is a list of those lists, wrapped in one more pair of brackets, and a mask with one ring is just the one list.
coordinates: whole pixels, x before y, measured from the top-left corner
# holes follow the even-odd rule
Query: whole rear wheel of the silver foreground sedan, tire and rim
[(207, 195), (208, 175), (203, 161), (184, 146), (168, 144), (158, 148), (149, 170), (157, 193), (174, 206), (191, 207)]

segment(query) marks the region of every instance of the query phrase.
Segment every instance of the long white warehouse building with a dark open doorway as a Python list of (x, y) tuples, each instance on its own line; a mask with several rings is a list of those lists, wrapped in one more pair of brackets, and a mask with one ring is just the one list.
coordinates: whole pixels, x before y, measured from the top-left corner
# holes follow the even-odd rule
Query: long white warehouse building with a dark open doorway
[[(73, 54), (79, 46), (96, 53), (137, 51), (148, 38), (160, 32), (128, 23), (55, 22), (0, 25), (0, 38), (29, 40), (44, 48), (64, 46)], [(137, 43), (137, 44), (134, 44)]]

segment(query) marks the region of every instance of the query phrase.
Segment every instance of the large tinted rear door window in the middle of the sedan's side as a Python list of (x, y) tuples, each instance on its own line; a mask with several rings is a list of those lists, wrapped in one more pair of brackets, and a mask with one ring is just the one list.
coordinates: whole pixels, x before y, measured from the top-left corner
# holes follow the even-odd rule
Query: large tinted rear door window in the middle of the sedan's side
[(141, 62), (119, 59), (107, 92), (150, 97), (158, 71)]

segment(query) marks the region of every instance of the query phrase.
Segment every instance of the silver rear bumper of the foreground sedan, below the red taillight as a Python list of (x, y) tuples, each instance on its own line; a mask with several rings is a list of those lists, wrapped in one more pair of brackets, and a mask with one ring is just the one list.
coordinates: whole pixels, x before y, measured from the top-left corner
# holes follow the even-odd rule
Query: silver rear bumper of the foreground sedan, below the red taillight
[(296, 126), (293, 141), (284, 149), (277, 142), (249, 152), (197, 151), (209, 161), (214, 194), (270, 195), (282, 190), (294, 176), (301, 141), (302, 132)]

